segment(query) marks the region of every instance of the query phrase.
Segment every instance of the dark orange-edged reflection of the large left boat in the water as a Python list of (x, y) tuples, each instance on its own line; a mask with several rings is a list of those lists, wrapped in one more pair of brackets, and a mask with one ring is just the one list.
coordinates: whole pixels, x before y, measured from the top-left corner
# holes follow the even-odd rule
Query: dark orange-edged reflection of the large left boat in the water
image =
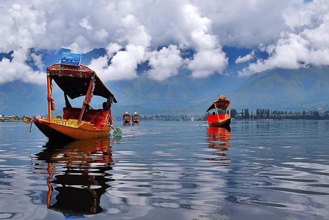
[[(103, 211), (100, 199), (113, 181), (110, 138), (48, 142), (36, 154), (47, 163), (47, 207), (65, 216), (93, 215)], [(40, 164), (35, 164), (36, 169)], [(52, 195), (55, 195), (55, 198)]]

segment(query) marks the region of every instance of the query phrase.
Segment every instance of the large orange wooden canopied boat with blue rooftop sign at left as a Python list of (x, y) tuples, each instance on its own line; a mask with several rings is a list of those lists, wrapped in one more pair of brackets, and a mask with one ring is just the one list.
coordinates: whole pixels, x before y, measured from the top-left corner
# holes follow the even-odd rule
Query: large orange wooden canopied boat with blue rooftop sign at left
[[(52, 98), (53, 80), (64, 92), (65, 108), (62, 119), (52, 117), (52, 110), (55, 110)], [(48, 117), (34, 118), (35, 125), (45, 136), (86, 139), (110, 134), (113, 125), (110, 108), (117, 101), (93, 70), (84, 65), (53, 64), (47, 68), (47, 89)], [(103, 109), (94, 110), (90, 107), (93, 95), (107, 99), (103, 103)], [(82, 108), (72, 108), (67, 97), (75, 99), (81, 96), (85, 96)]]

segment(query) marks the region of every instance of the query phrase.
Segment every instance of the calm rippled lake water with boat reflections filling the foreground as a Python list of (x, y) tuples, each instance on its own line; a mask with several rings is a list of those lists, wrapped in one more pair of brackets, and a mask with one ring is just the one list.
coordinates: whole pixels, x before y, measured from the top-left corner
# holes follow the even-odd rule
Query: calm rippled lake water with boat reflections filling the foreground
[(0, 219), (329, 219), (329, 121), (198, 123), (67, 143), (1, 122)]

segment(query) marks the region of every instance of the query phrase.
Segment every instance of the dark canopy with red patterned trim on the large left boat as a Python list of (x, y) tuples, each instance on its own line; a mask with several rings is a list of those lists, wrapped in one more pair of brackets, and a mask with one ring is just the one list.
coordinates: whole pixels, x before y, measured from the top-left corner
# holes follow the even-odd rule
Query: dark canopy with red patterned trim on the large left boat
[(113, 97), (112, 102), (117, 103), (113, 93), (101, 81), (97, 74), (84, 65), (71, 66), (64, 64), (53, 64), (47, 68), (47, 75), (55, 81), (64, 93), (71, 99), (75, 99), (87, 94), (90, 79), (94, 77), (95, 88), (93, 95), (106, 99)]

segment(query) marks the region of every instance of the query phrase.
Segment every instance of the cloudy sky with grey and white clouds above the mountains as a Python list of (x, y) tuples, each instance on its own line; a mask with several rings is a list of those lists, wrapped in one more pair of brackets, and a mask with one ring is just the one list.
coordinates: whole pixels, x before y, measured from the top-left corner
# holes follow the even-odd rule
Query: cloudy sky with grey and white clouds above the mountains
[(104, 81), (136, 78), (146, 61), (150, 80), (182, 69), (192, 78), (222, 74), (224, 46), (251, 51), (230, 60), (244, 65), (236, 77), (329, 65), (328, 0), (2, 0), (0, 13), (0, 53), (13, 51), (0, 61), (0, 83), (45, 83), (42, 54), (61, 48), (105, 48), (89, 64)]

